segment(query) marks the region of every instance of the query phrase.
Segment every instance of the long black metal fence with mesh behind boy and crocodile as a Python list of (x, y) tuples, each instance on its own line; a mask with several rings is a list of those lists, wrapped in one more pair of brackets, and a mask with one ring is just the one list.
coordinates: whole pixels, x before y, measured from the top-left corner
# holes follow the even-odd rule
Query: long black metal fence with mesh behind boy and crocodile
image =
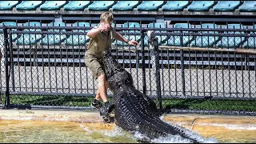
[[(94, 98), (98, 84), (84, 63), (86, 32), (90, 28), (2, 26), (2, 106), (90, 110), (88, 103)], [(114, 40), (112, 54), (132, 74), (134, 86), (154, 98), (160, 109), (220, 113), (203, 108), (168, 107), (174, 99), (255, 102), (255, 29), (116, 27), (116, 30), (137, 40), (139, 46), (126, 46)], [(108, 94), (113, 96), (110, 91)], [(242, 110), (242, 114), (255, 113)]]

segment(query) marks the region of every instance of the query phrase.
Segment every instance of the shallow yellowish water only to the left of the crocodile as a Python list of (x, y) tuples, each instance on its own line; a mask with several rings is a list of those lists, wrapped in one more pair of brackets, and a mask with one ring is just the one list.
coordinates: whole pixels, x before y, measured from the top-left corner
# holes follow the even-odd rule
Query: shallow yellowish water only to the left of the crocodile
[(0, 142), (99, 143), (136, 142), (110, 124), (44, 121), (0, 121)]

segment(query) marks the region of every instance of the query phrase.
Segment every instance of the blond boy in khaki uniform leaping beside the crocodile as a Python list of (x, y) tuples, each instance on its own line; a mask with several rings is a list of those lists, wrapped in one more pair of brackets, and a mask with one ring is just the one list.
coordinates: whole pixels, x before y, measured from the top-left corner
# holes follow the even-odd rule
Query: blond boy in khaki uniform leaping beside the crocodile
[(129, 41), (114, 30), (114, 28), (111, 26), (114, 16), (110, 12), (101, 14), (100, 20), (101, 22), (99, 26), (94, 26), (94, 28), (87, 33), (87, 36), (90, 37), (90, 42), (86, 50), (85, 63), (94, 74), (94, 78), (98, 79), (97, 94), (94, 101), (91, 103), (91, 106), (99, 110), (99, 108), (102, 106), (100, 102), (102, 99), (104, 102), (104, 107), (102, 107), (104, 108), (103, 111), (104, 113), (108, 113), (110, 104), (107, 100), (106, 94), (108, 84), (106, 82), (105, 68), (102, 62), (102, 50), (110, 48), (113, 38), (126, 42), (129, 45), (137, 46), (138, 42)]

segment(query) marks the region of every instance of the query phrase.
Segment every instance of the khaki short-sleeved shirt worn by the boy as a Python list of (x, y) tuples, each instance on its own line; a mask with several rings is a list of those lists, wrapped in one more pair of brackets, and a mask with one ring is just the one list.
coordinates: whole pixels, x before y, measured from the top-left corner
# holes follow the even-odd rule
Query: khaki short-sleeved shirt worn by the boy
[[(94, 29), (97, 28), (98, 26), (94, 26)], [(113, 38), (115, 38), (115, 36), (116, 31), (113, 29), (113, 27), (111, 27), (108, 32), (102, 30), (101, 32), (96, 34), (94, 38), (90, 38), (86, 54), (90, 54), (97, 58), (102, 58), (102, 51), (110, 48)]]

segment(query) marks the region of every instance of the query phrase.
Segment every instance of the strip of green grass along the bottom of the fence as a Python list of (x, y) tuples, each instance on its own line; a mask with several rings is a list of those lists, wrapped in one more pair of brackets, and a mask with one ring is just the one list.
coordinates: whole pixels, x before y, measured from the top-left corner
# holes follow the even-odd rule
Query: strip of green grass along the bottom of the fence
[[(2, 95), (2, 104), (5, 97)], [(94, 97), (60, 95), (10, 95), (10, 104), (39, 106), (90, 106)], [(112, 101), (112, 98), (109, 98)], [(158, 103), (156, 101), (156, 103)], [(163, 109), (256, 111), (253, 100), (162, 99)]]

